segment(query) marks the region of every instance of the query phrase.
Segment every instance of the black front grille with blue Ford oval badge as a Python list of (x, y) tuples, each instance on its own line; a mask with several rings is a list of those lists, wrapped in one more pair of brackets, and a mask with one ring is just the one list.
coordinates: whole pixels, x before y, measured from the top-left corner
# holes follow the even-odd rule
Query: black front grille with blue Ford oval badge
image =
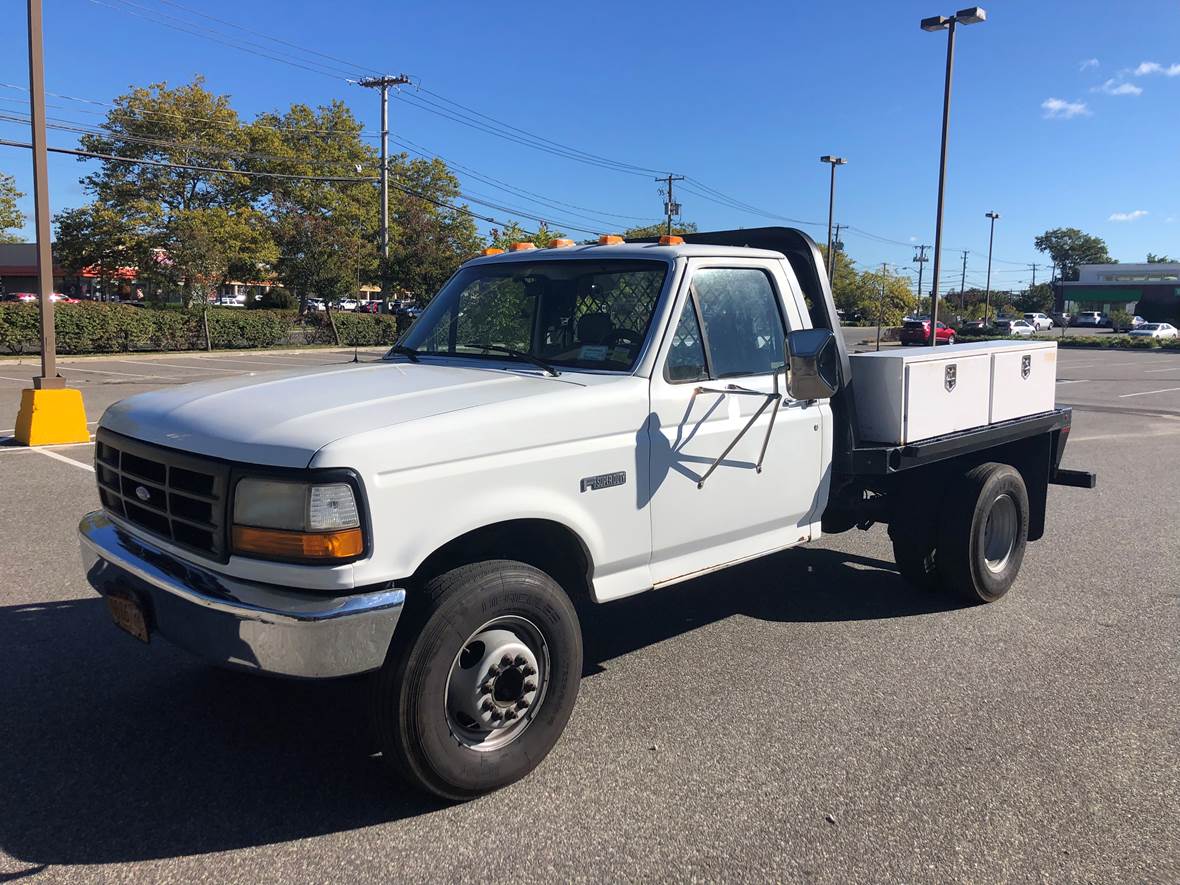
[(94, 472), (107, 512), (177, 546), (225, 559), (228, 465), (99, 430)]

